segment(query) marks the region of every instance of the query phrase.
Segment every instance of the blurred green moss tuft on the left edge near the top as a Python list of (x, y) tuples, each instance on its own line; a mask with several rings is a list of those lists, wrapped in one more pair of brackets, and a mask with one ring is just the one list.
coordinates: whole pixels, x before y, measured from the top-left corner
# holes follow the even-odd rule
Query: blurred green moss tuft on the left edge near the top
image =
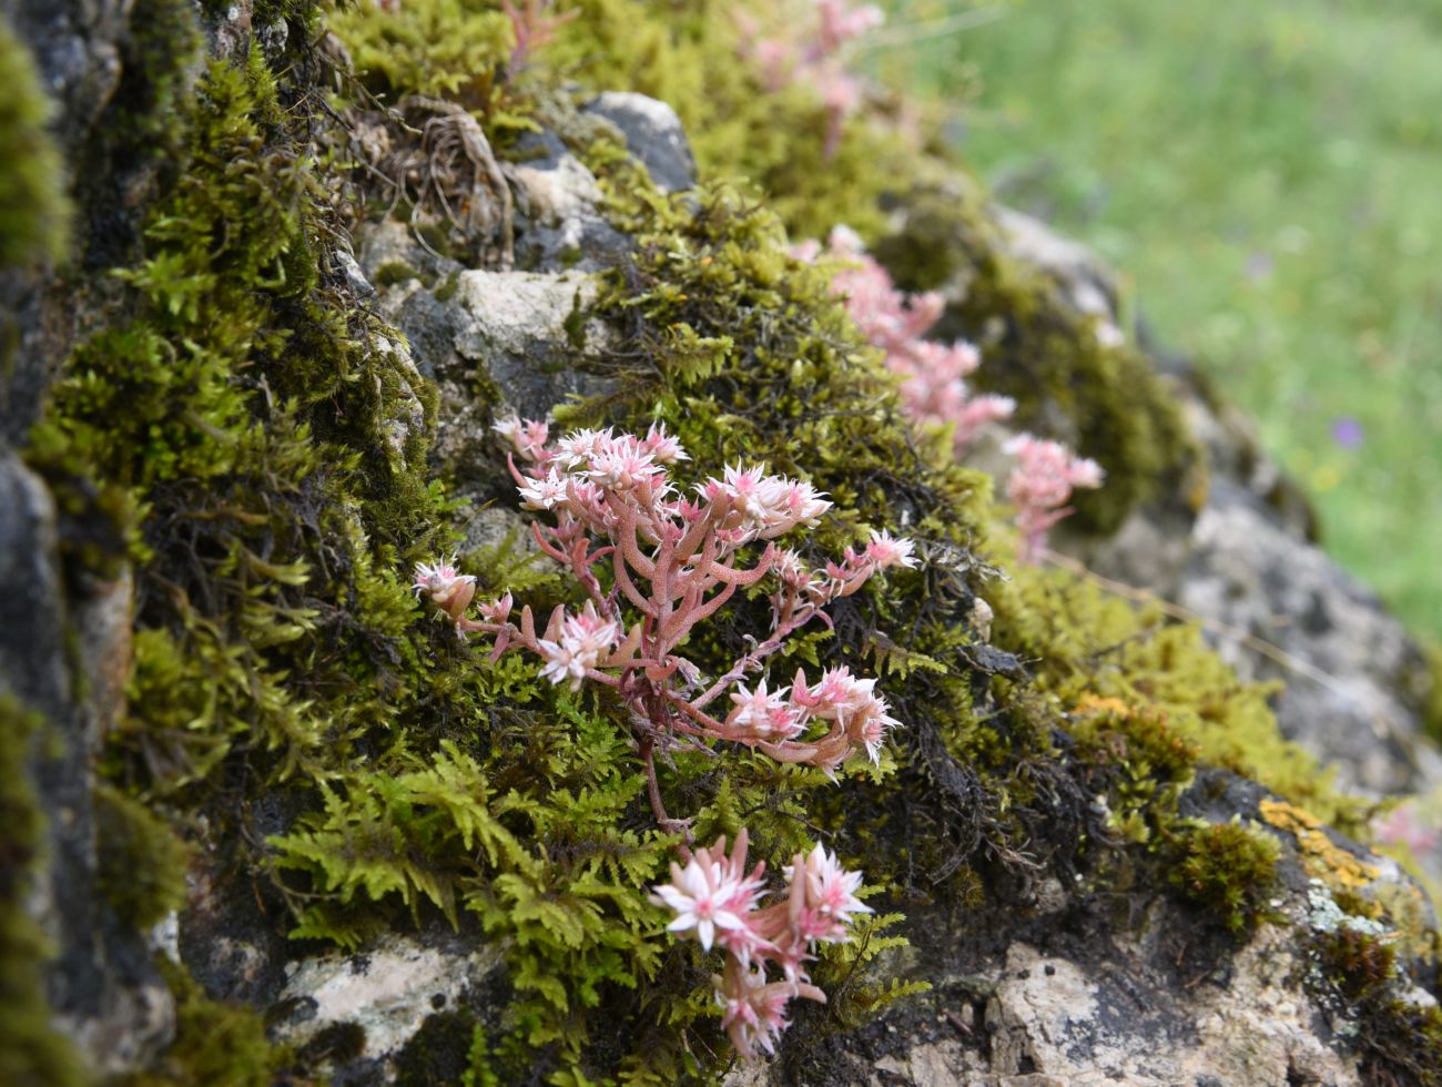
[(0, 268), (65, 252), (68, 186), (50, 112), (29, 50), (0, 16)]

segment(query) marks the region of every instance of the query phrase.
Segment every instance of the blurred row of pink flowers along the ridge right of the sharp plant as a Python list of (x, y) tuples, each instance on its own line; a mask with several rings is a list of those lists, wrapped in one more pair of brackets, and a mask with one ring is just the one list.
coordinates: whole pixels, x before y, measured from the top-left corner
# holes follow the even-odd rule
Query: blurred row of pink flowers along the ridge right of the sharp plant
[[(796, 247), (796, 255), (805, 261), (813, 261), (819, 252), (816, 242)], [(901, 398), (914, 418), (950, 425), (957, 454), (988, 422), (1011, 418), (1015, 401), (978, 396), (966, 388), (966, 378), (981, 365), (975, 346), (965, 340), (947, 346), (921, 339), (942, 316), (940, 294), (898, 291), (887, 270), (844, 226), (832, 231), (829, 255), (845, 261), (832, 278), (832, 290), (846, 300), (861, 333), (885, 352), (887, 368), (901, 376)], [(1004, 450), (1017, 458), (1007, 494), (1017, 507), (1022, 533), (1021, 561), (1034, 562), (1051, 526), (1073, 512), (1067, 506), (1071, 492), (1102, 486), (1102, 467), (1031, 434), (1015, 435)]]

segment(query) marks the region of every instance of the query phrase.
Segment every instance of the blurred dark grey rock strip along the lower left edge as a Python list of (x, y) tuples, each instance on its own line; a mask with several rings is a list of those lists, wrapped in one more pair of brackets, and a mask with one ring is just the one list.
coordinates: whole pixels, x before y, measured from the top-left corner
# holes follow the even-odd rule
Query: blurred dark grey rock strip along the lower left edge
[[(114, 714), (130, 634), (123, 585), (84, 603), (81, 660), (68, 663), (74, 629), (59, 582), (55, 506), (19, 458), (0, 451), (0, 696), (45, 722), (30, 766), (48, 828), (46, 862), (27, 908), (55, 947), (49, 999), (56, 1019), (89, 1062), (108, 1073), (144, 1064), (174, 1031), (174, 1001), (97, 888), (92, 760)], [(76, 696), (72, 672), (87, 662), (91, 698)], [(12, 964), (10, 969), (19, 969)]]

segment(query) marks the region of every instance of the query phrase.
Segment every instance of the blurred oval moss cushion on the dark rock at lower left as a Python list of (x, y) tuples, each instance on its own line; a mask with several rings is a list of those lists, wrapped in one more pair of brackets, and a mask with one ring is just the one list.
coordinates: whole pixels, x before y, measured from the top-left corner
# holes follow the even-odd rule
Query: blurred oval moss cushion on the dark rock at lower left
[(95, 790), (99, 889), (123, 921), (150, 928), (186, 897), (190, 852), (149, 807), (120, 790)]

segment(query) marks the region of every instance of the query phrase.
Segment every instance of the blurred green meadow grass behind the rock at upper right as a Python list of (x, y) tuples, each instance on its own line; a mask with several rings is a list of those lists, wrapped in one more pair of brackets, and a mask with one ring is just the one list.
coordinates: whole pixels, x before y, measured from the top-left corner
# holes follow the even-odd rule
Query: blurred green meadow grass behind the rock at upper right
[(1442, 0), (890, 7), (919, 33), (880, 72), (959, 104), (972, 167), (1120, 270), (1442, 637)]

